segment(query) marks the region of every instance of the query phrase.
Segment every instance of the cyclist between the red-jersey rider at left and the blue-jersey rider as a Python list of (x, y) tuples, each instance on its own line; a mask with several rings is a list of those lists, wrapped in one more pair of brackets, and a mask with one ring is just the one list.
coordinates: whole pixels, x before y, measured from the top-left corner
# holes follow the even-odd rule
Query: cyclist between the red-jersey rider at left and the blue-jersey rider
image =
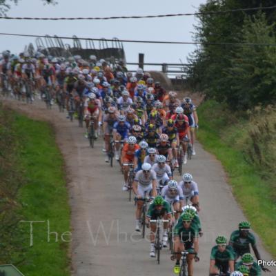
[(108, 114), (104, 116), (103, 119), (103, 133), (104, 133), (104, 142), (106, 148), (106, 159), (105, 161), (109, 161), (108, 152), (110, 151), (110, 137), (112, 135), (113, 126), (115, 122), (117, 122), (118, 117), (116, 113), (115, 106), (110, 106), (108, 108)]

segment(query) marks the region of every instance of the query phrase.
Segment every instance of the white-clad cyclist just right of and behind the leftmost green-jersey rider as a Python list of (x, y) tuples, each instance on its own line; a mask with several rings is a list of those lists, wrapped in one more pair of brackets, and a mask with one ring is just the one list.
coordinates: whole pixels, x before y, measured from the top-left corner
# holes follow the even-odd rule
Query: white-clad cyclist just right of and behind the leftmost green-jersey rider
[(179, 217), (181, 211), (180, 200), (183, 199), (181, 188), (177, 185), (177, 181), (170, 180), (168, 184), (162, 189), (161, 196), (173, 207), (175, 210), (175, 219)]

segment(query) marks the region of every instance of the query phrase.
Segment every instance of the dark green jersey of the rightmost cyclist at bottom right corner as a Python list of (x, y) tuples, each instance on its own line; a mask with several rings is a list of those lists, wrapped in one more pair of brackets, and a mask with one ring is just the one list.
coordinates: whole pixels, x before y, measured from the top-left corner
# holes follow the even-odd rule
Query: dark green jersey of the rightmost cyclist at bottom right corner
[(254, 235), (248, 232), (247, 237), (240, 237), (239, 230), (235, 230), (230, 236), (230, 242), (233, 243), (233, 248), (237, 257), (244, 255), (244, 253), (250, 253), (250, 244), (255, 246), (256, 239)]

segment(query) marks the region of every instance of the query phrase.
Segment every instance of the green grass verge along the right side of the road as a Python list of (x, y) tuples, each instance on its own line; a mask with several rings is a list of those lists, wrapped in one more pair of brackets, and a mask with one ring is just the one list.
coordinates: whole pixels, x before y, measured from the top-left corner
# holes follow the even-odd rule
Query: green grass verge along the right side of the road
[(215, 101), (206, 101), (198, 108), (197, 138), (206, 150), (213, 153), (228, 174), (237, 199), (248, 221), (262, 238), (264, 246), (276, 257), (276, 205), (271, 197), (273, 188), (259, 175), (253, 164), (246, 162), (242, 151), (246, 143), (249, 121), (235, 118)]

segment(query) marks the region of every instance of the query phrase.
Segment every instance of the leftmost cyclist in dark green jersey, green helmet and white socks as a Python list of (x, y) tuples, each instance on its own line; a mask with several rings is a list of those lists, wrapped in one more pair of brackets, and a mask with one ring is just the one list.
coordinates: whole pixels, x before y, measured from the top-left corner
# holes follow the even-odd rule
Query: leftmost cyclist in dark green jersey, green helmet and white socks
[[(155, 197), (152, 204), (150, 204), (146, 215), (146, 224), (150, 225), (150, 257), (155, 257), (155, 233), (157, 228), (156, 223), (150, 223), (150, 219), (155, 220), (158, 217), (169, 220), (170, 224), (172, 224), (172, 211), (170, 209), (170, 204), (161, 196)], [(168, 241), (168, 225), (168, 222), (164, 222), (162, 239), (164, 247), (166, 247)]]

